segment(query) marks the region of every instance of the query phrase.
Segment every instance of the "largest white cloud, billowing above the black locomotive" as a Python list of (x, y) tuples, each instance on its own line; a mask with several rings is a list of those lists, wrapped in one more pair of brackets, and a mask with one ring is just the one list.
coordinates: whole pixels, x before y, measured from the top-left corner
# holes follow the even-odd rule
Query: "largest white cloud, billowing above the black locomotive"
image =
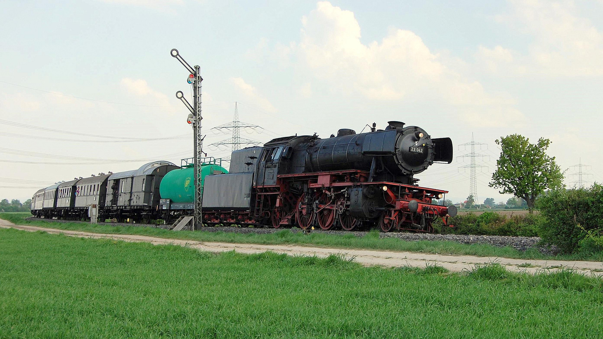
[[(354, 13), (318, 2), (301, 19), (300, 41), (285, 58), (297, 58), (301, 72), (344, 94), (369, 100), (440, 100), (448, 111), (476, 126), (517, 124), (523, 114), (504, 95), (450, 69), (414, 32), (390, 29), (380, 41), (361, 41)], [(260, 41), (262, 50), (267, 41)], [(273, 52), (277, 55), (277, 50)], [(507, 117), (513, 117), (509, 120)]]

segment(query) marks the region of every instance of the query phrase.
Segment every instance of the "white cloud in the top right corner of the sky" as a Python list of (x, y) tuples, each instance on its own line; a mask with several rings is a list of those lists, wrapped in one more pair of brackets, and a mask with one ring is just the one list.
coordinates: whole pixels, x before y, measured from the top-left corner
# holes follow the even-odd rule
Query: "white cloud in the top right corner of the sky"
[[(603, 75), (603, 33), (580, 17), (572, 1), (511, 0), (513, 13), (498, 16), (534, 41), (525, 53), (480, 47), (479, 63), (491, 72), (545, 76)], [(509, 59), (511, 55), (516, 57)], [(513, 62), (511, 62), (513, 61)]]

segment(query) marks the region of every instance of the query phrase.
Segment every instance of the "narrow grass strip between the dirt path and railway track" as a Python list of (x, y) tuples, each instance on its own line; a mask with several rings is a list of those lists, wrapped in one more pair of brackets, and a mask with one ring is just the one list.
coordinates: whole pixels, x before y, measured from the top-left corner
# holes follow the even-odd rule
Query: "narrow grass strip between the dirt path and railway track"
[(209, 231), (168, 231), (154, 227), (93, 225), (81, 222), (52, 222), (25, 220), (29, 213), (0, 213), (5, 219), (19, 225), (56, 228), (59, 230), (86, 231), (104, 234), (136, 234), (165, 239), (197, 240), (201, 242), (256, 243), (260, 245), (295, 244), (328, 248), (378, 249), (386, 251), (409, 251), (434, 254), (476, 255), (478, 257), (542, 259), (542, 260), (594, 260), (603, 261), (603, 254), (593, 255), (545, 255), (536, 249), (517, 251), (510, 246), (500, 248), (486, 244), (466, 245), (449, 241), (405, 241), (396, 238), (379, 238), (378, 231), (366, 236), (354, 234), (293, 233), (290, 230), (270, 234), (209, 232)]

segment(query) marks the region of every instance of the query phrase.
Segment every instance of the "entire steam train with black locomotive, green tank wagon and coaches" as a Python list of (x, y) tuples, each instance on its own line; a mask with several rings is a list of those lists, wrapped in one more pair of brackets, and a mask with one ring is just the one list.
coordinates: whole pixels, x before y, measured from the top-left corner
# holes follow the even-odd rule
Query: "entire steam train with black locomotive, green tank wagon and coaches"
[[(203, 220), (209, 225), (348, 231), (378, 225), (384, 232), (429, 232), (435, 219), (447, 224), (447, 217), (456, 215), (455, 206), (437, 203), (447, 191), (423, 188), (414, 178), (435, 162), (452, 162), (450, 138), (431, 138), (421, 127), (399, 121), (389, 121), (384, 130), (373, 124), (367, 133), (340, 129), (325, 139), (277, 138), (263, 147), (233, 151), (230, 171), (219, 159), (204, 160)], [(40, 190), (32, 200), (32, 213), (85, 218), (83, 197), (92, 194), (98, 197), (93, 201), (99, 203), (101, 218), (169, 221), (192, 214), (195, 190), (189, 162), (180, 167), (153, 162), (101, 177)], [(80, 188), (85, 180), (93, 182), (90, 188)]]

